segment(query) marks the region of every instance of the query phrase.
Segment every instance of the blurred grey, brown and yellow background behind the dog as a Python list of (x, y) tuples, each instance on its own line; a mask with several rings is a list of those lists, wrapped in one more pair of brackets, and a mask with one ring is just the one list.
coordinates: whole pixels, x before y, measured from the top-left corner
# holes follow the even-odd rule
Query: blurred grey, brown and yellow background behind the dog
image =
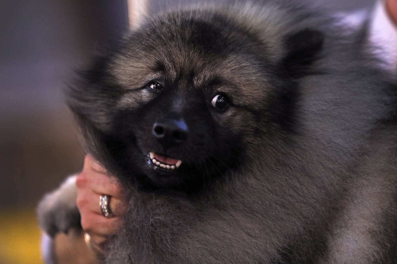
[[(35, 207), (82, 167), (62, 95), (73, 70), (119, 38), (129, 21), (137, 23), (145, 7), (160, 11), (189, 2), (198, 1), (0, 1), (1, 264), (42, 263)], [(374, 0), (311, 2), (351, 13), (370, 9)]]

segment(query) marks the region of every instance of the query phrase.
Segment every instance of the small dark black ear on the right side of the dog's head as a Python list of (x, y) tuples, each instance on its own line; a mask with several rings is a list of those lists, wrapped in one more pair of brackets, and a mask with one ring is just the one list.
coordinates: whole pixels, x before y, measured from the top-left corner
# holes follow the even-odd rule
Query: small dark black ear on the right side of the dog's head
[(305, 28), (285, 37), (287, 50), (283, 66), (293, 75), (304, 74), (323, 47), (324, 34), (319, 30)]

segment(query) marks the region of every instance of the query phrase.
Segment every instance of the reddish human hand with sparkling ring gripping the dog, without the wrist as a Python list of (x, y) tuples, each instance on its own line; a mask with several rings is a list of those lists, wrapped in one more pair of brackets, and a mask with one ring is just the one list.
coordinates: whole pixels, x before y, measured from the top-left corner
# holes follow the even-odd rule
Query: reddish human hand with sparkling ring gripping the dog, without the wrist
[[(121, 227), (120, 217), (127, 206), (121, 186), (116, 177), (108, 175), (90, 156), (85, 156), (83, 171), (77, 175), (76, 186), (81, 226), (91, 236), (91, 246), (103, 252), (109, 236)], [(110, 197), (112, 213), (109, 217), (102, 215), (99, 206), (99, 197), (104, 194)]]

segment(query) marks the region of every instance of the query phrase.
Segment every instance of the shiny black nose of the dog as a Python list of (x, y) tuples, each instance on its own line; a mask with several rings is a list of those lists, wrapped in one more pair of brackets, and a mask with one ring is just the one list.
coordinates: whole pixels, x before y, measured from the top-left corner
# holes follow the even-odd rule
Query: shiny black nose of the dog
[(186, 141), (189, 130), (183, 118), (176, 120), (163, 118), (153, 125), (154, 137), (164, 146), (171, 147)]

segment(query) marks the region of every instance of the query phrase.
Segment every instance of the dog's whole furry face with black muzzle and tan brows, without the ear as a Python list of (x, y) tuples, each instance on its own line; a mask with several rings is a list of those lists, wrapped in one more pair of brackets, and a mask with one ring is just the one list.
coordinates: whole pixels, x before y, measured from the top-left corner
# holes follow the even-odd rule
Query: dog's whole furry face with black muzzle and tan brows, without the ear
[(86, 73), (93, 90), (79, 100), (91, 103), (74, 109), (138, 186), (194, 191), (247, 165), (247, 149), (261, 158), (253, 153), (258, 138), (291, 130), (295, 87), (280, 78), (287, 68), (266, 42), (212, 19), (219, 23), (152, 21)]

